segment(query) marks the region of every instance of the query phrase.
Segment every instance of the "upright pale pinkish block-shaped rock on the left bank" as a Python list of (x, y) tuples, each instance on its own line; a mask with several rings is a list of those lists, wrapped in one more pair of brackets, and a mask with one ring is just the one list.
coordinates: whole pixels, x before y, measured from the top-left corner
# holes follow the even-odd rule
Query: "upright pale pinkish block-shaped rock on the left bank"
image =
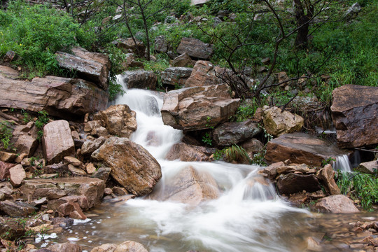
[(75, 155), (75, 144), (66, 120), (56, 120), (43, 127), (43, 155), (48, 165), (60, 162), (67, 155)]

